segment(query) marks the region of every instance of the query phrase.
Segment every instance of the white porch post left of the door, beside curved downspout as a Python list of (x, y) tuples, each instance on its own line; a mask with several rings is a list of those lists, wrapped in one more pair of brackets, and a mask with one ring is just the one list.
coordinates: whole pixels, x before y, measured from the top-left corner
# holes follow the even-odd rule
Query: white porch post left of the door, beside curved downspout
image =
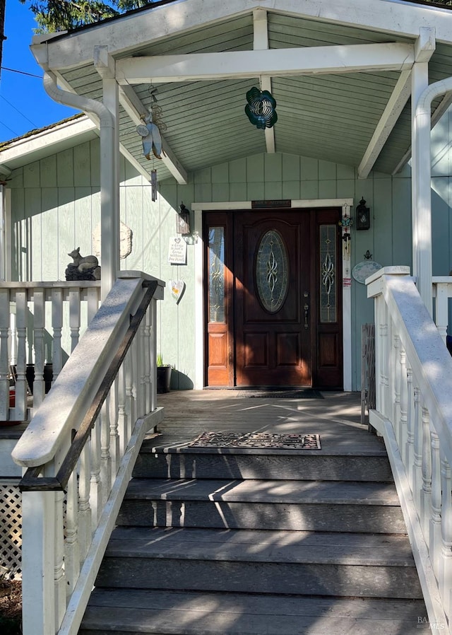
[(119, 89), (108, 47), (95, 47), (94, 63), (102, 77), (102, 101), (113, 121), (112, 129), (100, 129), (100, 281), (104, 300), (119, 271)]

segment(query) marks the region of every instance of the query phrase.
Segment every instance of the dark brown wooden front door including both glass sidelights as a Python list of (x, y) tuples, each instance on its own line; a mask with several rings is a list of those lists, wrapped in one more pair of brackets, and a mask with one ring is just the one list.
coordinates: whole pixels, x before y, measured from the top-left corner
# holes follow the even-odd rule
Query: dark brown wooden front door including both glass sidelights
[(339, 219), (205, 215), (206, 385), (342, 388)]

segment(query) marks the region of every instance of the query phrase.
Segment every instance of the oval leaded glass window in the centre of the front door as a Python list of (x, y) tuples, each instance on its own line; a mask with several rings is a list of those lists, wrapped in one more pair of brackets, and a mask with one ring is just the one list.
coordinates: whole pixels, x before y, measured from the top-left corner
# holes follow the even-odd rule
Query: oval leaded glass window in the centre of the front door
[(258, 244), (255, 272), (258, 297), (268, 313), (276, 313), (284, 304), (289, 286), (288, 269), (283, 238), (270, 229)]

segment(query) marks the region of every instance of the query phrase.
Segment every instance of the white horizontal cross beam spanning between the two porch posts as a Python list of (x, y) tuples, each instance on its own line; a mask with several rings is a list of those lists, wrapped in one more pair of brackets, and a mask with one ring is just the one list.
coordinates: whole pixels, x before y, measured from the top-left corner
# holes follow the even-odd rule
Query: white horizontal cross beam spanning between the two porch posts
[(119, 84), (405, 71), (415, 61), (409, 44), (383, 43), (222, 53), (126, 57), (116, 63)]

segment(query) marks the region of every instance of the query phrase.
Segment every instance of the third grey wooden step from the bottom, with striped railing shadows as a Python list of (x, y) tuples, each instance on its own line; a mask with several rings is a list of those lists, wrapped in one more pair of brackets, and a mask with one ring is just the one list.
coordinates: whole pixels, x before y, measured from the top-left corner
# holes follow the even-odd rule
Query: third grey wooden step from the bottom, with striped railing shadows
[(405, 533), (393, 484), (133, 479), (118, 525)]

